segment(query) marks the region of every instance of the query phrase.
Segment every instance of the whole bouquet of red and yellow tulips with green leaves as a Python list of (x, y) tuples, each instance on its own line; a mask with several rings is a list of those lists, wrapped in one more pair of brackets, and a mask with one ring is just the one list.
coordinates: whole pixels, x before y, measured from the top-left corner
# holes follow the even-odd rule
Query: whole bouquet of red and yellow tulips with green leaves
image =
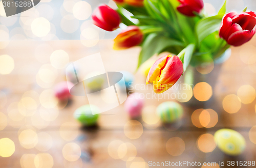
[(188, 65), (210, 63), (230, 45), (240, 46), (255, 34), (256, 13), (247, 8), (226, 13), (226, 1), (214, 16), (204, 12), (202, 0), (113, 1), (117, 10), (101, 5), (92, 19), (106, 31), (118, 29), (121, 22), (127, 25), (114, 39), (114, 49), (141, 46), (138, 67), (154, 54), (174, 54), (159, 58), (148, 73), (146, 82), (154, 83), (155, 93), (172, 87)]

